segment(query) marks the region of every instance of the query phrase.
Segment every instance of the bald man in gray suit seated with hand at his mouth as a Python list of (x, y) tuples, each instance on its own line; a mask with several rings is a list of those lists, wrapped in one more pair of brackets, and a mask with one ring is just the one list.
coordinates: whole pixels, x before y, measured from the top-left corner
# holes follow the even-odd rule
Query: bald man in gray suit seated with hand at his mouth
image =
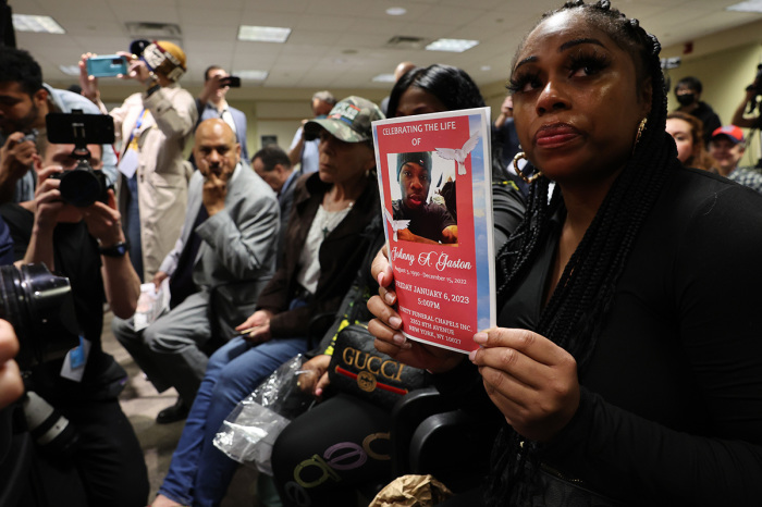
[(157, 417), (183, 419), (206, 371), (212, 337), (228, 339), (254, 311), (272, 276), (279, 206), (272, 189), (241, 159), (241, 145), (221, 119), (201, 122), (180, 239), (153, 277), (170, 279), (171, 310), (144, 331), (112, 321), (119, 342), (159, 392), (175, 387), (177, 404)]

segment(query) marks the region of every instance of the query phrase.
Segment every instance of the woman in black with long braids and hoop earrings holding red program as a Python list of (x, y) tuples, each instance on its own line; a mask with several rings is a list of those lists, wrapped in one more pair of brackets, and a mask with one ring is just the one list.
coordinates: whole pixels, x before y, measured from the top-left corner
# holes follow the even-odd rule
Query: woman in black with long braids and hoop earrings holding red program
[(468, 358), (405, 339), (373, 262), (377, 348), (504, 423), (483, 491), (442, 505), (762, 497), (762, 198), (681, 166), (659, 51), (607, 1), (524, 39), (509, 89), (534, 180), (497, 257), (499, 326)]

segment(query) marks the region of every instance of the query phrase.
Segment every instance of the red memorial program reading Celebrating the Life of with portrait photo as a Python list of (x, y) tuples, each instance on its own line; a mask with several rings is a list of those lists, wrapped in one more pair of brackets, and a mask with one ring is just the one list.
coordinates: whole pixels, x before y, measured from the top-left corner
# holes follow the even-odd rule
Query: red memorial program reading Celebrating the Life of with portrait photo
[(490, 109), (373, 122), (402, 332), (468, 353), (495, 324)]

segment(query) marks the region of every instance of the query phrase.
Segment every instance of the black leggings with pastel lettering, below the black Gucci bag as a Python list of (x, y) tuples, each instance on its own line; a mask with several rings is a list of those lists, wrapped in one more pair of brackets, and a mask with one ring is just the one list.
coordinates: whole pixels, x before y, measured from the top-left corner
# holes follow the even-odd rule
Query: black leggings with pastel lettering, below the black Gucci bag
[(339, 394), (288, 424), (272, 449), (287, 506), (355, 506), (355, 489), (390, 481), (389, 411)]

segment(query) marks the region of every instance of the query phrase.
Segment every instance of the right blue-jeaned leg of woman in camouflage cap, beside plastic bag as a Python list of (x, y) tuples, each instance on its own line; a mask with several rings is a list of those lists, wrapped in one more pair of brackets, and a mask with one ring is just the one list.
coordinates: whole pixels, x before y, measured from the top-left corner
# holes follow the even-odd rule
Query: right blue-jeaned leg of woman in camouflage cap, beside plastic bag
[(219, 505), (238, 466), (213, 444), (214, 435), (225, 418), (238, 401), (248, 396), (278, 367), (306, 350), (307, 338), (273, 338), (256, 347), (249, 346), (239, 356), (232, 358), (220, 372), (207, 411), (204, 443), (195, 478), (194, 506)]

